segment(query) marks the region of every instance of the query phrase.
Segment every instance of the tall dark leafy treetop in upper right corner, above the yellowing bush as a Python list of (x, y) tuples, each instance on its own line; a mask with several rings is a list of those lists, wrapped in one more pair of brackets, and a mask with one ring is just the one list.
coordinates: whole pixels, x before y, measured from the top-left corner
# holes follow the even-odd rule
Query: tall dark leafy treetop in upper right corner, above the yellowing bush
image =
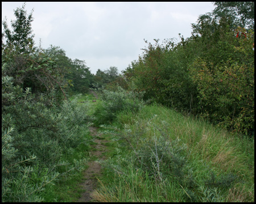
[(215, 2), (214, 5), (217, 7), (212, 13), (200, 15), (197, 23), (192, 24), (197, 56), (203, 57), (208, 65), (212, 63), (212, 67), (229, 59), (243, 61), (241, 54), (233, 49), (240, 43), (235, 36), (240, 33), (246, 38), (244, 35), (249, 29), (241, 29), (254, 29), (254, 2)]

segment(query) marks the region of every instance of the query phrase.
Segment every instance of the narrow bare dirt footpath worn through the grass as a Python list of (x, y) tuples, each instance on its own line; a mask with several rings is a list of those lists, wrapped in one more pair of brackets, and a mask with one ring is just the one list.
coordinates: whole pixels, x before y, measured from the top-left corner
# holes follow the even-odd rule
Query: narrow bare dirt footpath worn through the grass
[[(89, 130), (92, 136), (97, 135), (97, 128), (90, 127)], [(99, 160), (105, 160), (106, 158), (105, 156), (102, 155), (102, 153), (107, 151), (106, 146), (104, 146), (104, 144), (108, 141), (101, 138), (97, 138), (94, 139), (94, 142), (96, 143), (94, 148), (96, 148), (96, 151), (90, 152), (90, 155), (96, 156)], [(82, 184), (80, 184), (82, 188), (85, 190), (85, 192), (81, 195), (81, 198), (79, 198), (78, 202), (92, 201), (92, 193), (94, 192), (97, 185), (96, 177), (100, 176), (101, 174), (101, 165), (99, 163), (92, 161), (89, 162), (88, 165), (88, 169), (86, 169), (86, 171), (84, 172), (85, 181)]]

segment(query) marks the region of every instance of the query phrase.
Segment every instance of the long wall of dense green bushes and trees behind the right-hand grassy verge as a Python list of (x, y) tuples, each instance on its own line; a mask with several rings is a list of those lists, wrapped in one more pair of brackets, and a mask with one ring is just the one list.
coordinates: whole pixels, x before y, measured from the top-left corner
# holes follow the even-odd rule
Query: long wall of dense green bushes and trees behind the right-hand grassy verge
[[(243, 7), (254, 11), (254, 4), (215, 4), (216, 10), (200, 15), (192, 24), (188, 39), (148, 43), (142, 56), (124, 72), (125, 77), (138, 91), (145, 91), (145, 100), (253, 135), (254, 31), (246, 27), (254, 28), (254, 23), (253, 16), (243, 14)], [(250, 18), (250, 24), (226, 14), (226, 7)], [(244, 28), (238, 26), (241, 23)]]

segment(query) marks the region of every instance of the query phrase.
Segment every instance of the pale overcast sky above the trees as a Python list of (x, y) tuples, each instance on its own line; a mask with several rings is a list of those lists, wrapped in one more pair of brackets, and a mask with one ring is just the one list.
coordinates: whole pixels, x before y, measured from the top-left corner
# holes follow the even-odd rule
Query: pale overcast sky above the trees
[[(2, 20), (9, 28), (14, 10), (24, 2), (2, 2)], [(125, 70), (147, 46), (143, 39), (190, 37), (191, 24), (211, 12), (211, 2), (26, 2), (32, 9), (36, 46), (60, 46), (71, 59), (84, 60), (91, 73), (118, 68)], [(3, 25), (2, 25), (3, 32)]]

